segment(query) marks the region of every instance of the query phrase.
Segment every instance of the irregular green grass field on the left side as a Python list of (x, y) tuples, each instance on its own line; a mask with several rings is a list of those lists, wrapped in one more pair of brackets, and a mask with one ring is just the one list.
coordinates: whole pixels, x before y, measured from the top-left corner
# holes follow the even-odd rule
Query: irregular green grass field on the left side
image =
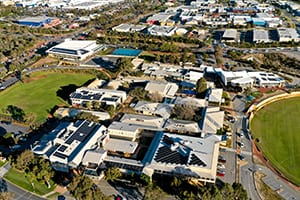
[(42, 122), (47, 118), (48, 111), (55, 105), (67, 104), (57, 96), (57, 91), (62, 86), (75, 84), (81, 86), (89, 79), (91, 74), (38, 72), (25, 79), (23, 83), (17, 83), (0, 92), (0, 112), (8, 105), (22, 108), (26, 115), (32, 115), (36, 122)]

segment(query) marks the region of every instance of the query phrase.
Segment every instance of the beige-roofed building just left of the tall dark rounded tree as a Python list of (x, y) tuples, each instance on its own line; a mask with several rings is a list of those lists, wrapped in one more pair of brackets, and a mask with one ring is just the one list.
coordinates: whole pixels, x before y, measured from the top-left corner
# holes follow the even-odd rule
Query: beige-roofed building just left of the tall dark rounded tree
[(179, 89), (176, 83), (163, 82), (163, 81), (150, 81), (147, 83), (145, 90), (150, 94), (158, 93), (162, 97), (173, 97)]

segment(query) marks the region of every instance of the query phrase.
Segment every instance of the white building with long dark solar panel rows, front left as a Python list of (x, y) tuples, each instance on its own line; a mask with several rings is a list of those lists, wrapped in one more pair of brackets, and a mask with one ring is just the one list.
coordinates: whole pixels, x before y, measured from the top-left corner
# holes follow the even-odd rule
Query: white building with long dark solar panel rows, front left
[(49, 140), (41, 140), (32, 151), (43, 155), (57, 171), (68, 172), (77, 168), (87, 150), (97, 146), (101, 137), (106, 137), (106, 127), (94, 122), (76, 121), (58, 126)]

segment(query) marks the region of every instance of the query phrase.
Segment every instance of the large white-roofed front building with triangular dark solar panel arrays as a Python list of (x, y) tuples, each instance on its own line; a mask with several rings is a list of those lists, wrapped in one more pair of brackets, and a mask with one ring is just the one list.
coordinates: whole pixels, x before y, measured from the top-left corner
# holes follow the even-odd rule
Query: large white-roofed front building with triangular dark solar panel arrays
[[(190, 137), (164, 133), (143, 172), (190, 177), (203, 182), (216, 181), (219, 139)], [(152, 155), (150, 155), (152, 154)]]

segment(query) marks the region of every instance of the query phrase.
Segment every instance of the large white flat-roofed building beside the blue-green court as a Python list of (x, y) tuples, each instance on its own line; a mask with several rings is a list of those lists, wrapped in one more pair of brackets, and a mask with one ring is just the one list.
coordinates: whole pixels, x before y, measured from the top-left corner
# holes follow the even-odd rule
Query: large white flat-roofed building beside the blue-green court
[(81, 61), (104, 49), (104, 45), (98, 45), (95, 40), (70, 40), (51, 47), (46, 52), (54, 57), (70, 61)]

